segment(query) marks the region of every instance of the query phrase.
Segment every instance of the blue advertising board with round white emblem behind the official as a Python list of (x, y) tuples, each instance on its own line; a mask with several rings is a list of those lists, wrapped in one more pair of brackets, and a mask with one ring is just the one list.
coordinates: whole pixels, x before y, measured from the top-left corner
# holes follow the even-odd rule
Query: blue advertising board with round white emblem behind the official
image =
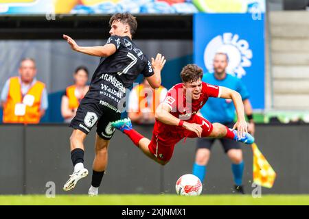
[(194, 14), (194, 63), (213, 73), (217, 52), (227, 53), (227, 73), (241, 78), (253, 109), (264, 109), (264, 13)]

